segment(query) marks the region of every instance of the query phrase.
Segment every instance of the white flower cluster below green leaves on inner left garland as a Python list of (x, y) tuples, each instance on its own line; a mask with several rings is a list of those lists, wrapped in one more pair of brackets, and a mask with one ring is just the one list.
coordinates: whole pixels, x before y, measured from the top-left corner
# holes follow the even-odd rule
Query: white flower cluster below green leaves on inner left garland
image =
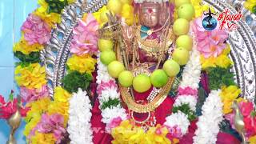
[(110, 123), (113, 118), (118, 117), (122, 118), (122, 120), (127, 118), (126, 110), (120, 105), (102, 110), (102, 122), (104, 123)]

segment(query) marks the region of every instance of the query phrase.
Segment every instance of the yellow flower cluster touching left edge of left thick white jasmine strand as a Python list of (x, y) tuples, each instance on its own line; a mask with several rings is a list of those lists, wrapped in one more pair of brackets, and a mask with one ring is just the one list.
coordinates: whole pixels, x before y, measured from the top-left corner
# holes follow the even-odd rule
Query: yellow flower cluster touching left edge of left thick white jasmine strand
[(69, 94), (61, 86), (57, 86), (54, 90), (54, 101), (50, 102), (50, 105), (48, 106), (49, 114), (62, 114), (64, 117), (65, 126), (69, 118), (68, 110), (70, 106), (70, 96), (71, 94)]

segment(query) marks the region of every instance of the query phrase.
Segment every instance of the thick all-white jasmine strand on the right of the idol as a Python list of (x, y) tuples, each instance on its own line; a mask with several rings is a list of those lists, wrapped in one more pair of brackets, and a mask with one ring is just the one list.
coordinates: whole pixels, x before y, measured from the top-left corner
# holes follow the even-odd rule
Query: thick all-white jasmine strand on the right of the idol
[(202, 106), (202, 115), (198, 118), (198, 129), (195, 131), (194, 144), (214, 144), (217, 141), (219, 123), (222, 122), (221, 90), (212, 90)]

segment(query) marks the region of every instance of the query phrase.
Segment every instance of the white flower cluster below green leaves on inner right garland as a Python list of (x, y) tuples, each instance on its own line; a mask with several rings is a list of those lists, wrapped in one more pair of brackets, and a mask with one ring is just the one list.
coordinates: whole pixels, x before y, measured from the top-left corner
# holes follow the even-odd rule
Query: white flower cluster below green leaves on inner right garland
[(190, 121), (187, 118), (187, 115), (178, 111), (177, 113), (171, 114), (170, 116), (166, 117), (166, 122), (164, 123), (166, 126), (178, 126), (181, 131), (182, 135), (186, 134), (188, 127), (190, 126)]

